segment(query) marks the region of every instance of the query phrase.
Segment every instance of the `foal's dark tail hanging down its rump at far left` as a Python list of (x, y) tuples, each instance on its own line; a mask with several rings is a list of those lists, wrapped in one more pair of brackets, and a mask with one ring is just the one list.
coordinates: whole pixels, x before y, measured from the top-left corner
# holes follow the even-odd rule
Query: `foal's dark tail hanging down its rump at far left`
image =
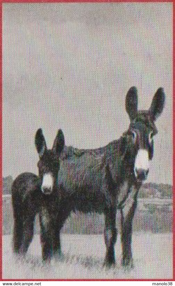
[(11, 188), (13, 206), (13, 252), (19, 253), (23, 240), (23, 202), (15, 181)]

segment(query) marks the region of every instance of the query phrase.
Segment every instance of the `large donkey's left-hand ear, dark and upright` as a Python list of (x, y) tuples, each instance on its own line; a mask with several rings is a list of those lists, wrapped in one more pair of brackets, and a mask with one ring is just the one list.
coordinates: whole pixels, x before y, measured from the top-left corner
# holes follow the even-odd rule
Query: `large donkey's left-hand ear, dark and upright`
[(137, 115), (138, 108), (138, 96), (137, 89), (135, 86), (132, 86), (126, 94), (125, 107), (130, 120), (133, 120)]

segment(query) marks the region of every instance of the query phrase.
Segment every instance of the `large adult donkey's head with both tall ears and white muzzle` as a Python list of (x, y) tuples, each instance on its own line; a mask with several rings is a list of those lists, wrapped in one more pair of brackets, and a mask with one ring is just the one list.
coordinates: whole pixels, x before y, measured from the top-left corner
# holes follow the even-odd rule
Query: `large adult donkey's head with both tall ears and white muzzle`
[(149, 110), (138, 111), (137, 89), (132, 87), (126, 95), (126, 111), (130, 118), (128, 134), (134, 155), (134, 174), (138, 181), (146, 180), (149, 161), (153, 157), (153, 138), (158, 132), (154, 122), (163, 111), (165, 94), (159, 88), (152, 100)]

